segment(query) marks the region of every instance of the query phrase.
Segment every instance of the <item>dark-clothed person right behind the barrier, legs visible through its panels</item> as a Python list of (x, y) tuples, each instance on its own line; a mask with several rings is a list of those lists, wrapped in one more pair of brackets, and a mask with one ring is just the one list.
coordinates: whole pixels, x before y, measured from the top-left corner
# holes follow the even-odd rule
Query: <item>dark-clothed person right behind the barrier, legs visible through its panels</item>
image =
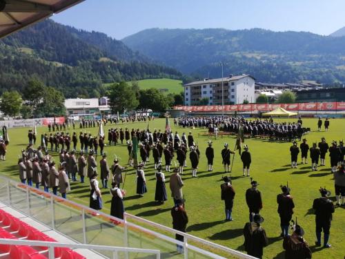
[[(186, 233), (186, 227), (188, 224), (188, 215), (184, 209), (184, 200), (179, 199), (175, 202), (175, 206), (171, 209), (172, 217), (172, 229)], [(176, 240), (184, 242), (184, 236), (179, 234), (175, 235)], [(177, 252), (184, 253), (184, 247), (177, 244)]]

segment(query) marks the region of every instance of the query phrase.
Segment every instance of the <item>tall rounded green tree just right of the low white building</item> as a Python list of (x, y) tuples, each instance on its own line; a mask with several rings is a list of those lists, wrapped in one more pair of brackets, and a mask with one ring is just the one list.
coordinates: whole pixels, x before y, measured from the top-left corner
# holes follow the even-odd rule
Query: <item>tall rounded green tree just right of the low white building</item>
[(124, 81), (110, 85), (108, 97), (112, 113), (122, 112), (124, 108), (132, 111), (139, 105), (139, 100), (132, 93), (132, 88)]

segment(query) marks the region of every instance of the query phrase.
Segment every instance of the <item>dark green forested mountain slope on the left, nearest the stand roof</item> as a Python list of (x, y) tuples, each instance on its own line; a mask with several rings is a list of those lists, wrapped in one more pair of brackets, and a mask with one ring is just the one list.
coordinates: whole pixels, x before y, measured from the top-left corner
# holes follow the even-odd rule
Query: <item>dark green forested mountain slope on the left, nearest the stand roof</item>
[(0, 41), (0, 94), (21, 90), (31, 77), (66, 97), (105, 94), (103, 83), (157, 77), (180, 78), (173, 68), (152, 64), (121, 41), (52, 20)]

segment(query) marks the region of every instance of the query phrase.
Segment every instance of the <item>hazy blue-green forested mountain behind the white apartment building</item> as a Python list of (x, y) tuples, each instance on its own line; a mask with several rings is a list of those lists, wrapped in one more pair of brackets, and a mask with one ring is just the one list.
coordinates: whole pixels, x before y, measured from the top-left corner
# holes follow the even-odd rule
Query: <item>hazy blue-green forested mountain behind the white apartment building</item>
[(345, 37), (270, 30), (143, 30), (122, 40), (166, 66), (199, 77), (249, 73), (258, 81), (345, 82)]

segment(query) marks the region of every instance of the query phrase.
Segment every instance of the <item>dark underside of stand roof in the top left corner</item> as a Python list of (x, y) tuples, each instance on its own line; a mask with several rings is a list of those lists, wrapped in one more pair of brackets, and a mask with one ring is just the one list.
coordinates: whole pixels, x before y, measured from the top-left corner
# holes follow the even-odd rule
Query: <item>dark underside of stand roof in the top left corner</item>
[(84, 0), (0, 0), (0, 38)]

